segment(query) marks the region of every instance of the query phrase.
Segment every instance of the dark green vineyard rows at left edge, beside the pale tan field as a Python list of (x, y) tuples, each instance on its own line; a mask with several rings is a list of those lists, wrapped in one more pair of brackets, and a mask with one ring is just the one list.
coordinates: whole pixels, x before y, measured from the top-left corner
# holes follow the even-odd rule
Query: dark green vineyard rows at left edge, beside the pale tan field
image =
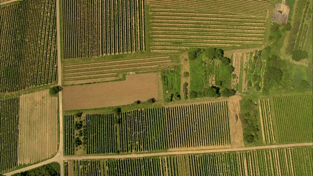
[(17, 166), (19, 98), (0, 100), (0, 173)]

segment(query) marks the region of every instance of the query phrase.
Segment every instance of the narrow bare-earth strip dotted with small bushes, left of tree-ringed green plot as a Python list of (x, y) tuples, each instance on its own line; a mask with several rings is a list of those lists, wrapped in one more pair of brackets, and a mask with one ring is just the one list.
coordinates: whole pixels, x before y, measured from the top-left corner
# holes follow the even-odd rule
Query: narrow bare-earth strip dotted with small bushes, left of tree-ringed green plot
[[(180, 95), (184, 96), (184, 89), (183, 89), (183, 84), (187, 83), (187, 95), (189, 96), (190, 92), (190, 76), (187, 78), (184, 77), (184, 72), (190, 73), (190, 67), (189, 67), (189, 59), (188, 59), (188, 53), (184, 52), (180, 54)], [(182, 98), (184, 100), (184, 98)]]

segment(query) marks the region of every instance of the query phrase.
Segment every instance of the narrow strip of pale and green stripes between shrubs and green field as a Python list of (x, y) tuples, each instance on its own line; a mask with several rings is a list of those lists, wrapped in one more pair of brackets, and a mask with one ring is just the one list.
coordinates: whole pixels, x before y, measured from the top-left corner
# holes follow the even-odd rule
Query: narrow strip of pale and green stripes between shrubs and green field
[(269, 99), (259, 100), (262, 137), (264, 143), (275, 143), (274, 124)]

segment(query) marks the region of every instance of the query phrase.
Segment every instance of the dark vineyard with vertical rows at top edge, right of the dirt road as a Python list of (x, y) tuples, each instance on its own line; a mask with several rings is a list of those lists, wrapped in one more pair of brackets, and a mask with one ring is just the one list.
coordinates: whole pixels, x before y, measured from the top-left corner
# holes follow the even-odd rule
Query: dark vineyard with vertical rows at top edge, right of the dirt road
[(145, 51), (143, 0), (63, 0), (64, 59)]

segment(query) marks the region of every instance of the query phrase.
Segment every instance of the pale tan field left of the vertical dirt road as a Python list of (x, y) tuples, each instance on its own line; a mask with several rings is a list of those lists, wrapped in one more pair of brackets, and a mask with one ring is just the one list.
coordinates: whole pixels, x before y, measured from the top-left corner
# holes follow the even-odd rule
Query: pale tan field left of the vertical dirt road
[(49, 90), (20, 96), (18, 164), (53, 156), (58, 148), (58, 98)]

